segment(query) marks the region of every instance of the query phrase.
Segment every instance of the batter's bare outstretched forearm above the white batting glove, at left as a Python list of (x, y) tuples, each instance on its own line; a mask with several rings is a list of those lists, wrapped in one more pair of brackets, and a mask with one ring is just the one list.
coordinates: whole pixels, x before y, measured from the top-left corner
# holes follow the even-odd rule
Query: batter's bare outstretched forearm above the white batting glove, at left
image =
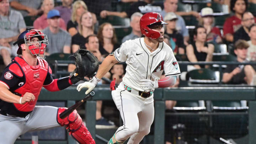
[(100, 65), (97, 74), (96, 74), (96, 78), (101, 79), (111, 68), (114, 64), (116, 64), (117, 61), (114, 58), (113, 55), (108, 55), (102, 62), (102, 64)]

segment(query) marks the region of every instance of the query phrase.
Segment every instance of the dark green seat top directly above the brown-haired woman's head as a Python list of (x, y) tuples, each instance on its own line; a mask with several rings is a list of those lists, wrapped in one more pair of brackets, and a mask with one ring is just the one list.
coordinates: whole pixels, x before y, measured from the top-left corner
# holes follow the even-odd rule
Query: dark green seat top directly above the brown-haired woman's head
[(109, 22), (113, 26), (129, 26), (130, 25), (129, 18), (122, 18), (119, 16), (107, 16), (106, 18), (100, 18), (98, 21), (99, 21), (99, 25), (101, 25), (104, 22)]

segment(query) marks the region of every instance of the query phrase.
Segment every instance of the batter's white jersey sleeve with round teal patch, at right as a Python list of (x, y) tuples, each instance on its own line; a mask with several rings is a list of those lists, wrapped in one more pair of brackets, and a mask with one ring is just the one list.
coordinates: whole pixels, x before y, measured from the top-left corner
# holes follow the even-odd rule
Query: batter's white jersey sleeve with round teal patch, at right
[(171, 51), (169, 56), (166, 58), (164, 63), (165, 76), (175, 76), (180, 75), (180, 67), (176, 58), (174, 57), (173, 52)]

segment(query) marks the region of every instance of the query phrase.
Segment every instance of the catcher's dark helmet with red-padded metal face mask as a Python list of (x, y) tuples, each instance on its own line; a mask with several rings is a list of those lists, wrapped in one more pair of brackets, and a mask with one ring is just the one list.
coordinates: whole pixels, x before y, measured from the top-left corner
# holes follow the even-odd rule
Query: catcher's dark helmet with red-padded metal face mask
[[(31, 41), (32, 38), (37, 37), (39, 41), (33, 42)], [(42, 58), (45, 58), (44, 56), (44, 51), (46, 48), (46, 45), (48, 45), (48, 39), (47, 36), (36, 29), (27, 29), (26, 31), (22, 32), (19, 36), (17, 41), (13, 44), (16, 45), (18, 44), (18, 50), (17, 50), (17, 54), (22, 54), (21, 52), (21, 44), (25, 43), (28, 46), (28, 49), (30, 50), (32, 55), (37, 55), (38, 57), (42, 57), (41, 55), (43, 55)], [(38, 46), (36, 46), (36, 44), (38, 44)]]

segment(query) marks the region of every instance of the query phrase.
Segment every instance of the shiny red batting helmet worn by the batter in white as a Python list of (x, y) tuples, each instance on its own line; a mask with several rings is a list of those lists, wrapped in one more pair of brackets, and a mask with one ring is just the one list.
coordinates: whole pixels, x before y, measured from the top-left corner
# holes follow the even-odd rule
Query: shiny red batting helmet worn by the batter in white
[(148, 12), (140, 18), (140, 31), (148, 38), (157, 39), (160, 37), (158, 31), (152, 30), (149, 26), (168, 24), (163, 21), (162, 16), (157, 12)]

